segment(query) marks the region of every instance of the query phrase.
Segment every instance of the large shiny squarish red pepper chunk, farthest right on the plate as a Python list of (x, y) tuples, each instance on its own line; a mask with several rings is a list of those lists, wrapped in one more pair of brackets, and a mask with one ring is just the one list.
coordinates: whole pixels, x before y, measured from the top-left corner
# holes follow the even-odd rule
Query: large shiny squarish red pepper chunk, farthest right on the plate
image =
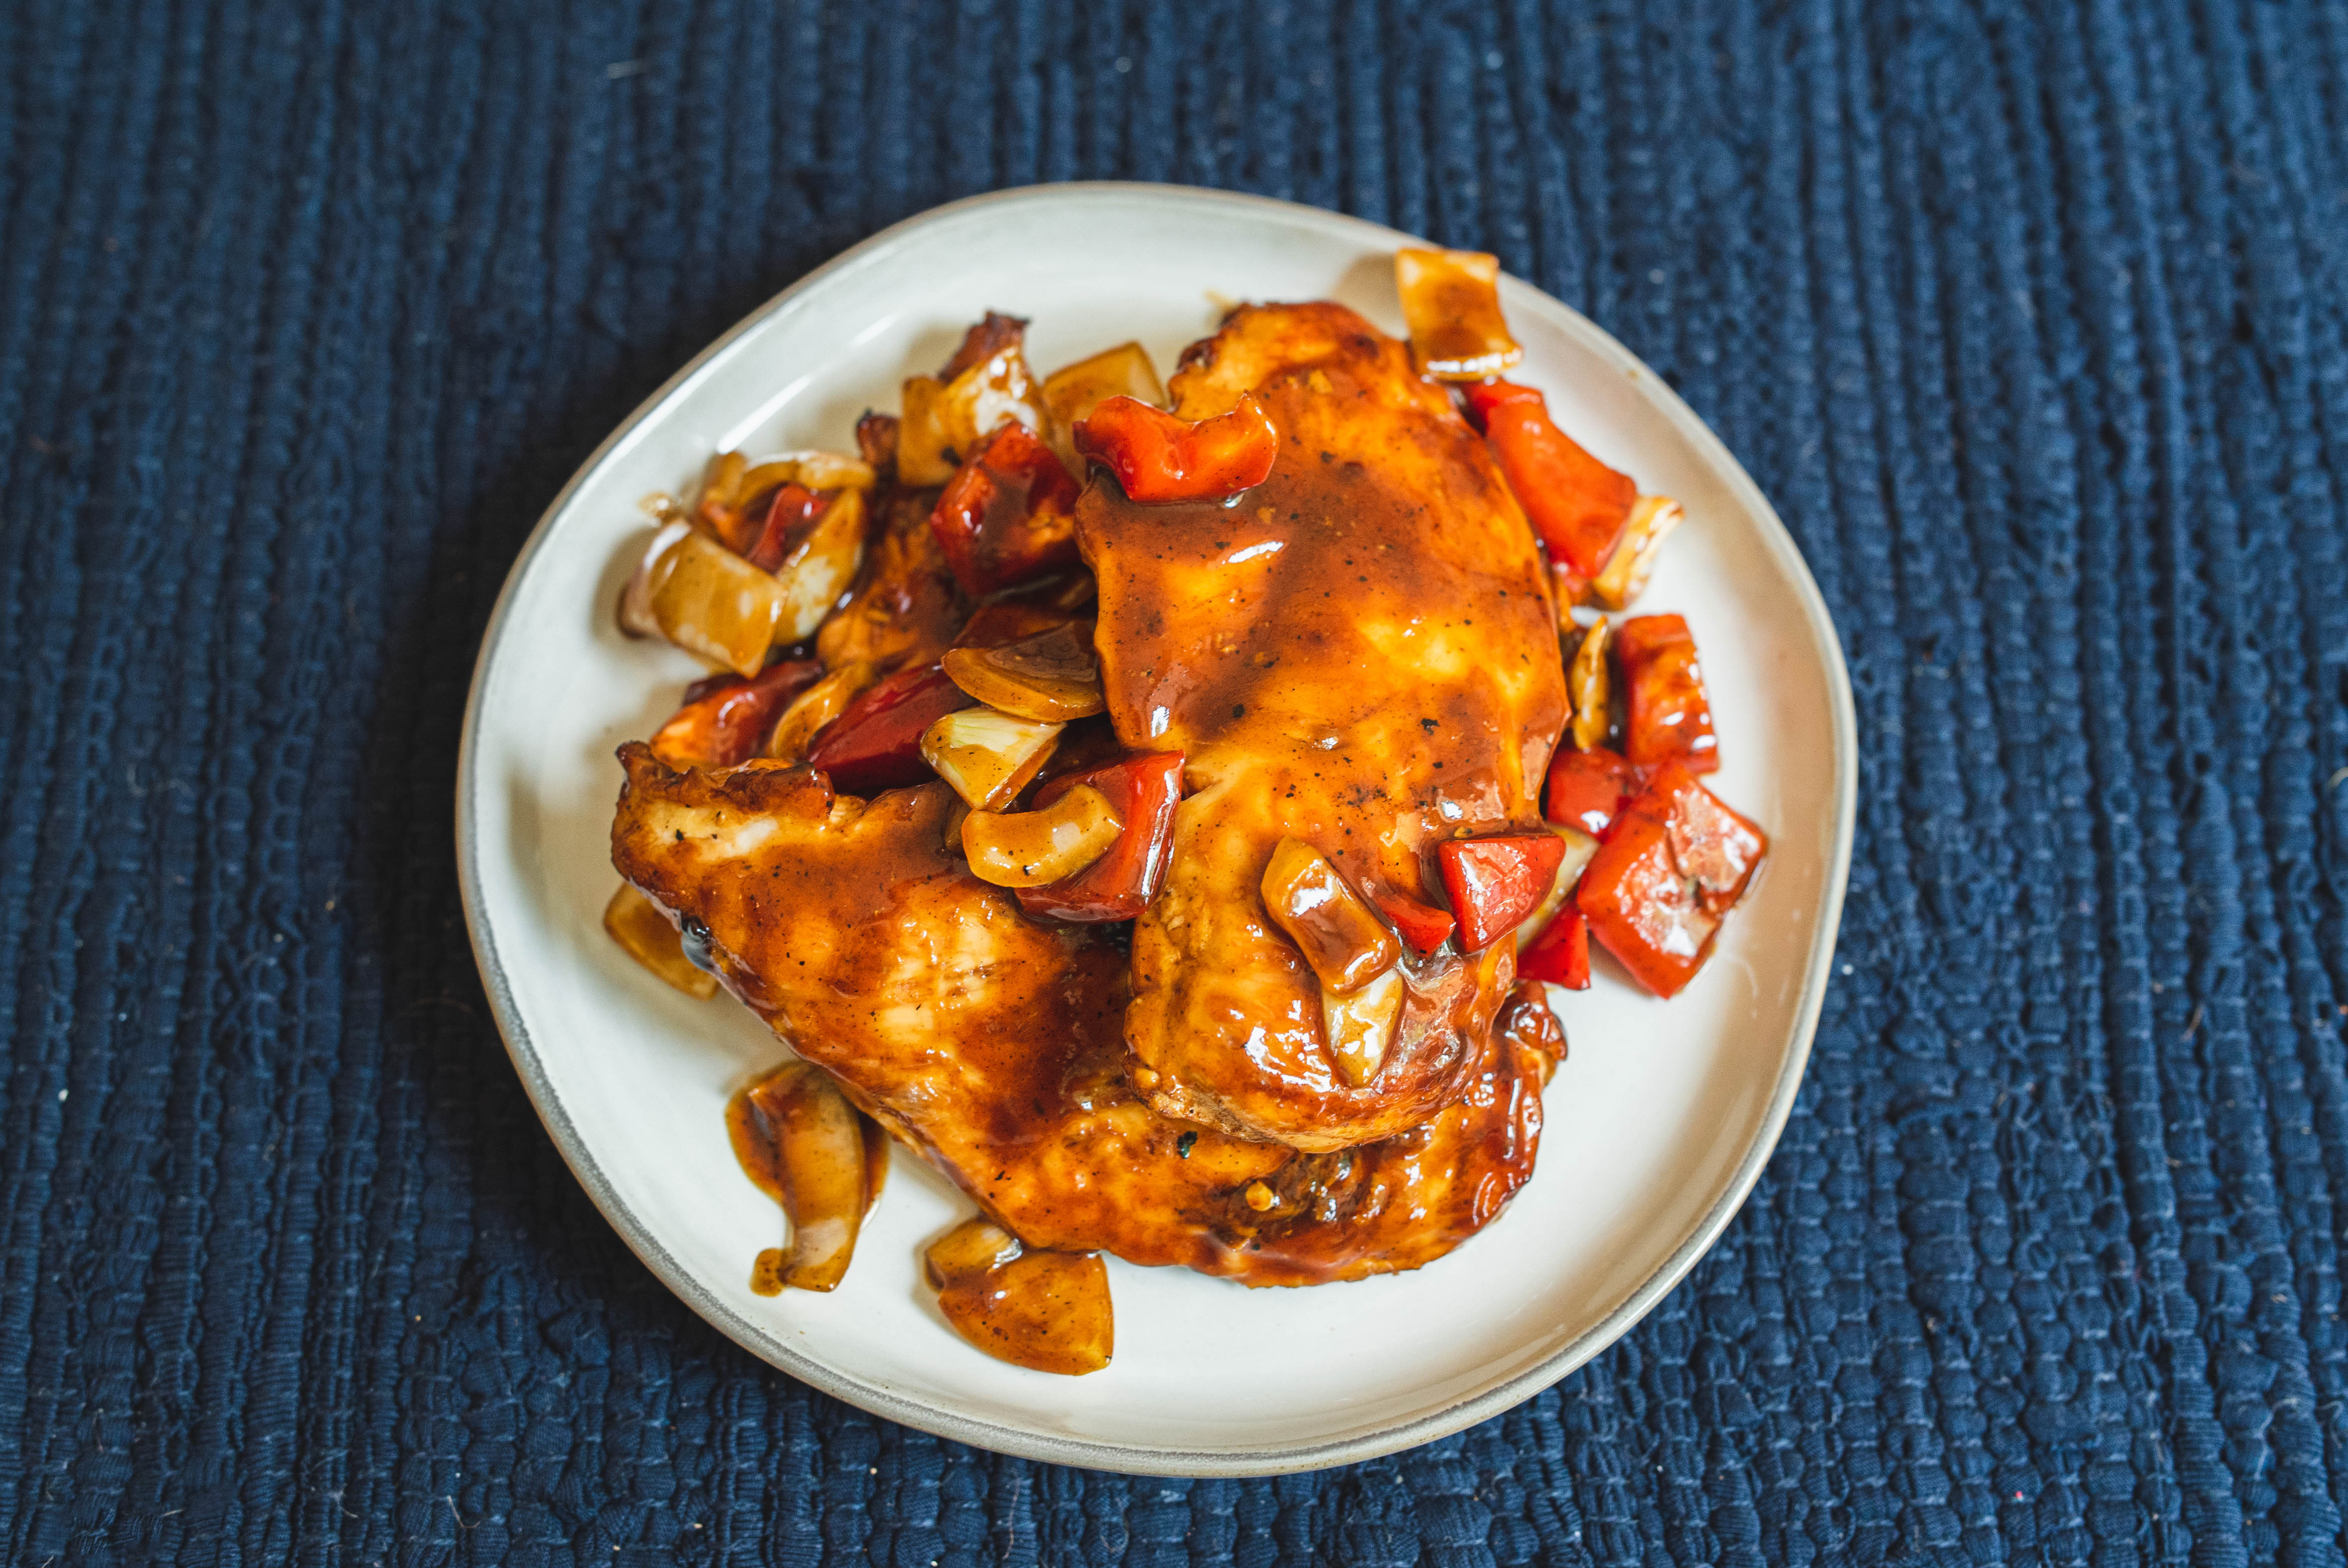
[(1745, 897), (1768, 836), (1667, 763), (1583, 871), (1573, 901), (1590, 934), (1655, 995), (1679, 995)]

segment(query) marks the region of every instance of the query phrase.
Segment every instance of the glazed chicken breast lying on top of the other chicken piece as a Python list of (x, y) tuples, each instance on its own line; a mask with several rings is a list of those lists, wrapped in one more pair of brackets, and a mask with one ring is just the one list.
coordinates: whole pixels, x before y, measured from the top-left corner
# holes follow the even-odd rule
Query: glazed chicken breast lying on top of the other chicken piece
[(1251, 392), (1280, 458), (1233, 505), (1143, 507), (1108, 477), (1078, 502), (1118, 739), (1181, 751), (1190, 789), (1134, 930), (1134, 1082), (1233, 1134), (1371, 1143), (1468, 1091), (1512, 944), (1404, 958), (1399, 1030), (1355, 1087), (1259, 883), (1289, 836), (1374, 904), (1430, 899), (1439, 840), (1543, 831), (1566, 692), (1540, 554), (1451, 397), (1341, 305), (1242, 305), (1172, 392), (1186, 420)]

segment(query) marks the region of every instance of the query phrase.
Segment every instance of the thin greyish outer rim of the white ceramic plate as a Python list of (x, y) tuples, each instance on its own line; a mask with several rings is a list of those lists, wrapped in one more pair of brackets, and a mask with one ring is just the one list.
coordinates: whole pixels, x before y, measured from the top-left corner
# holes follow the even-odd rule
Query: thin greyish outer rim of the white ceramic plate
[(634, 411), (603, 441), (596, 444), (592, 453), (580, 462), (547, 509), (538, 516), (531, 535), (524, 540), (521, 549), (514, 554), (514, 566), (505, 575), (505, 584), (498, 589), (498, 601), (488, 613), (488, 622), (481, 629), (481, 650), (474, 657), (472, 681), (465, 692), (465, 718), (458, 735), (458, 765), (456, 765), (456, 859), (458, 859), (458, 897), (465, 908), (465, 930), (472, 939), (474, 965), (481, 972), (481, 988), (488, 993), (491, 1014), (498, 1023), (498, 1035), (505, 1040), (505, 1052), (514, 1063), (514, 1073), (521, 1077), (521, 1087), (531, 1099), (531, 1108), (545, 1124), (547, 1134), (554, 1138), (556, 1153), (561, 1153), (564, 1164), (578, 1178), (580, 1188), (587, 1190), (589, 1202), (603, 1221), (620, 1235), (620, 1239), (636, 1253), (636, 1258), (653, 1270), (653, 1275), (683, 1300), (702, 1322), (711, 1324), (730, 1338), (742, 1350), (751, 1352), (761, 1361), (817, 1387), (836, 1399), (843, 1399), (871, 1415), (880, 1415), (935, 1437), (944, 1437), (960, 1444), (972, 1444), (993, 1453), (1007, 1453), (1026, 1460), (1043, 1460), (1050, 1465), (1075, 1465), (1082, 1469), (1108, 1469), (1122, 1474), (1143, 1476), (1266, 1476), (1266, 1474), (1294, 1474), (1303, 1469), (1324, 1469), (1331, 1465), (1352, 1465), (1359, 1460), (1374, 1460), (1404, 1448), (1416, 1448), (1435, 1439), (1449, 1437), (1463, 1427), (1477, 1425), (1517, 1404), (1531, 1399), (1540, 1390), (1550, 1387), (1566, 1373), (1576, 1371), (1601, 1350), (1611, 1347), (1632, 1326), (1639, 1324), (1672, 1289), (1695, 1268), (1719, 1242), (1721, 1232), (1745, 1207), (1752, 1195), (1754, 1183), (1761, 1178), (1763, 1167), (1777, 1150), (1777, 1138), (1784, 1134), (1784, 1124), (1794, 1110), (1794, 1099), (1801, 1089), (1803, 1070), (1810, 1061), (1810, 1047), (1817, 1035), (1817, 1019), (1827, 1000), (1827, 986), (1834, 974), (1834, 953), (1841, 939), (1843, 922), (1843, 892), (1850, 880), (1850, 847), (1857, 829), (1857, 704), (1850, 690), (1850, 671), (1843, 662), (1843, 646), (1834, 631), (1834, 617), (1827, 610), (1827, 599), (1810, 575), (1808, 561), (1801, 556), (1801, 547), (1787, 530), (1777, 509), (1768, 502), (1768, 495), (1754, 484), (1745, 465), (1738, 462), (1735, 453), (1705, 425), (1702, 418), (1688, 408), (1686, 399), (1653, 369), (1646, 366), (1637, 354), (1632, 354), (1622, 343), (1618, 343), (1606, 329), (1573, 310), (1564, 300), (1540, 291), (1538, 286), (1514, 277), (1503, 277), (1503, 293), (1514, 303), (1533, 305), (1543, 315), (1554, 315), (1554, 319), (1580, 340), (1580, 345), (1615, 369), (1641, 383), (1641, 394), (1662, 411), (1665, 418), (1679, 430), (1684, 439), (1705, 455), (1719, 474), (1726, 477), (1730, 493), (1747, 507), (1747, 512), (1761, 523), (1759, 533), (1768, 547), (1773, 561), (1787, 573), (1794, 584), (1794, 596), (1803, 608), (1803, 622), (1810, 641), (1817, 650), (1820, 664), (1827, 671), (1827, 707), (1829, 723), (1834, 730), (1834, 845), (1829, 852), (1827, 880), (1820, 899), (1820, 920), (1824, 922), (1824, 941), (1810, 953), (1810, 967), (1801, 981), (1801, 1002), (1794, 1019), (1794, 1042), (1777, 1070), (1777, 1082), (1770, 1087), (1768, 1110), (1763, 1115), (1759, 1134), (1745, 1148), (1738, 1160), (1735, 1171), (1721, 1188), (1719, 1199), (1705, 1211), (1695, 1230), (1653, 1270), (1641, 1279), (1613, 1312), (1594, 1322), (1590, 1329), (1578, 1333), (1566, 1345), (1559, 1345), (1540, 1364), (1519, 1371), (1512, 1378), (1479, 1387), (1477, 1392), (1463, 1394), (1439, 1411), (1416, 1415), (1411, 1420), (1399, 1420), (1381, 1425), (1350, 1437), (1336, 1437), (1310, 1444), (1266, 1444), (1266, 1446), (1230, 1446), (1230, 1448), (1158, 1448), (1146, 1444), (1120, 1444), (1101, 1439), (1068, 1437), (1059, 1432), (1031, 1430), (998, 1420), (984, 1420), (974, 1415), (960, 1415), (953, 1411), (935, 1408), (920, 1399), (899, 1394), (880, 1383), (866, 1383), (848, 1373), (834, 1371), (815, 1359), (803, 1357), (780, 1336), (761, 1331), (747, 1317), (735, 1312), (730, 1305), (709, 1293), (700, 1279), (695, 1279), (683, 1263), (662, 1244), (662, 1239), (646, 1225), (634, 1209), (629, 1209), (613, 1185), (606, 1181), (601, 1164), (587, 1148), (571, 1113), (564, 1108), (552, 1080), (547, 1077), (545, 1063), (540, 1061), (538, 1045), (531, 1040), (528, 1023), (521, 1019), (514, 1005), (512, 988), (505, 976), (505, 965), (498, 958), (498, 939), (488, 925), (486, 894), (481, 890), (481, 857), (474, 822), (474, 800), (479, 796), (477, 758), (479, 758), (479, 725), (481, 725), (481, 699), (488, 685), (488, 669), (495, 662), (498, 648), (510, 629), (510, 615), (514, 608), (514, 596), (521, 580), (528, 575), (538, 552), (545, 549), (556, 521), (568, 512), (573, 498), (587, 484), (587, 479), (622, 446), (632, 444), (643, 425), (662, 408), (669, 399), (681, 394), (693, 385), (711, 361), (716, 361), (737, 338), (749, 333), (754, 326), (763, 324), (780, 310), (789, 307), (791, 300), (812, 291), (822, 282), (871, 265), (883, 254), (904, 244), (913, 232), (925, 230), (939, 221), (956, 218), (986, 207), (1019, 207), (1031, 202), (1087, 202), (1087, 200), (1143, 200), (1143, 202), (1176, 202), (1197, 207), (1223, 207), (1251, 211), (1259, 218), (1273, 218), (1280, 223), (1303, 223), (1320, 228), (1331, 235), (1341, 235), (1357, 242), (1376, 242), (1381, 246), (1397, 244), (1428, 244), (1413, 235), (1388, 228), (1383, 223), (1371, 223), (1369, 218), (1355, 218), (1350, 214), (1336, 214), (1320, 207), (1305, 207), (1301, 202), (1284, 202), (1277, 197), (1263, 197), (1237, 190), (1212, 190), (1202, 185), (1165, 185), (1151, 181), (1068, 181), (1068, 183), (1045, 183), (1045, 185), (1012, 185), (1005, 190), (989, 190), (981, 195), (963, 197), (956, 202), (944, 202), (930, 207), (909, 218), (902, 218), (880, 232), (862, 239), (859, 244), (841, 251), (819, 268), (794, 279), (780, 293), (756, 305), (740, 322), (718, 333), (702, 352), (688, 359), (669, 380), (664, 380), (650, 397), (636, 404)]

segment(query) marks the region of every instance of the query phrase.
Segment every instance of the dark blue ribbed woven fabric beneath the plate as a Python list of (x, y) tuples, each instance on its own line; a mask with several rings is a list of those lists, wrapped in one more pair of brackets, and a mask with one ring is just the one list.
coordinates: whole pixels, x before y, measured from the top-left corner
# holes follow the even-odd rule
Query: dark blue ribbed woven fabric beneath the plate
[[(0, 1559), (2341, 1561), (2348, 9), (0, 9)], [(1864, 737), (1801, 1103), (1557, 1390), (1280, 1481), (810, 1394), (599, 1221), (448, 817), (564, 477), (798, 272), (1132, 176), (1500, 251)]]

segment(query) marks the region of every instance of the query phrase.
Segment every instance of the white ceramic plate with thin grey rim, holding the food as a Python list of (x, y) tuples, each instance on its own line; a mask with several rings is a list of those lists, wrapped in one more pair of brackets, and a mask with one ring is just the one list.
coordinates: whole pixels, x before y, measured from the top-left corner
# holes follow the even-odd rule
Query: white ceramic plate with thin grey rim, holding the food
[[(1801, 1082), (1834, 955), (1857, 744), (1810, 573), (1735, 458), (1651, 371), (1550, 296), (1503, 300), (1559, 425), (1676, 495), (1641, 610), (1705, 653), (1714, 789), (1773, 836), (1719, 953), (1674, 1002), (1606, 967), (1568, 998), (1540, 1169), (1514, 1207), (1416, 1275), (1247, 1291), (1111, 1263), (1115, 1361), (1054, 1378), (946, 1326), (918, 1251), (970, 1204), (897, 1150), (855, 1270), (829, 1296), (749, 1291), (782, 1218), (726, 1143), (726, 1096), (782, 1052), (740, 1005), (690, 1002), (603, 937), (613, 746), (700, 671), (629, 643), (610, 606), (636, 502), (711, 451), (848, 446), (869, 406), (998, 307), (1047, 371), (1141, 338), (1160, 371), (1219, 300), (1334, 298), (1402, 329), (1392, 230), (1256, 197), (1054, 185), (939, 207), (761, 307), (639, 408), (547, 509), (481, 641), (458, 768), (458, 857), (481, 979), (571, 1169), (629, 1246), (751, 1352), (942, 1437), (1143, 1474), (1266, 1474), (1430, 1441), (1547, 1387), (1655, 1305), (1745, 1202)], [(1564, 995), (1564, 993), (1559, 993)]]

